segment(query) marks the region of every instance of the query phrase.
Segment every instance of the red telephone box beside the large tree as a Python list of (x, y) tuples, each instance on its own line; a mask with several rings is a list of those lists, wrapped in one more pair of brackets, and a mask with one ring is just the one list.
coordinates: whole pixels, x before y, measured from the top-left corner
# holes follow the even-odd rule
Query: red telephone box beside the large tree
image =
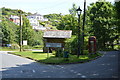
[(89, 53), (96, 53), (96, 37), (89, 37)]

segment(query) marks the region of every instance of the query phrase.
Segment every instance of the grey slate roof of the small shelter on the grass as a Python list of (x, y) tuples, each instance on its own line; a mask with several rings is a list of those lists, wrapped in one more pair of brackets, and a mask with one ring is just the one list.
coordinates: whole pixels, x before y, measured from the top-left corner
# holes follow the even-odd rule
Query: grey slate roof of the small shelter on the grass
[(44, 38), (71, 38), (71, 30), (46, 30)]

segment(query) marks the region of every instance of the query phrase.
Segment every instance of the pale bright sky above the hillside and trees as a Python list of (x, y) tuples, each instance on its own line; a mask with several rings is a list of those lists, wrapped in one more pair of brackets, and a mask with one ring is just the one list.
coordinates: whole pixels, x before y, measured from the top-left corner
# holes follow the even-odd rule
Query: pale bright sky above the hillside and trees
[[(86, 0), (87, 6), (97, 0)], [(106, 0), (114, 3), (114, 0)], [(83, 10), (84, 0), (1, 0), (0, 8), (21, 9), (25, 12), (39, 13), (41, 15), (62, 13), (69, 14), (69, 9), (75, 3)]]

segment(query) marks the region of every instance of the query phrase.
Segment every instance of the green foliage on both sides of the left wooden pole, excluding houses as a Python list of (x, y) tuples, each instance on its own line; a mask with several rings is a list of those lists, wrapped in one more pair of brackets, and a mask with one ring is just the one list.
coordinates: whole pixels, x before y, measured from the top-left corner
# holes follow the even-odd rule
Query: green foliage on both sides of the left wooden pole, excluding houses
[(28, 45), (30, 46), (43, 44), (43, 33), (41, 31), (34, 31), (32, 29), (29, 20), (25, 17), (25, 12), (23, 12), (22, 10), (13, 10), (5, 7), (3, 7), (2, 10), (3, 11), (1, 19), (2, 22), (0, 22), (0, 34), (2, 36), (3, 45), (20, 43), (20, 26), (9, 20), (10, 15), (19, 15), (20, 13), (23, 15), (22, 40), (27, 40)]

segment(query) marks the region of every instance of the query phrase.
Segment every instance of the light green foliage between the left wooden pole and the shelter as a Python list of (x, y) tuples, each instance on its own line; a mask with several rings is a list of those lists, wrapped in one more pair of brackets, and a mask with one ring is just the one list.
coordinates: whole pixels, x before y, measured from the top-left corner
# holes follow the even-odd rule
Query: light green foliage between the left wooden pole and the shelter
[(30, 26), (29, 20), (25, 17), (23, 17), (22, 35), (23, 40), (27, 40), (30, 46), (43, 44), (42, 32), (34, 31), (32, 26)]

